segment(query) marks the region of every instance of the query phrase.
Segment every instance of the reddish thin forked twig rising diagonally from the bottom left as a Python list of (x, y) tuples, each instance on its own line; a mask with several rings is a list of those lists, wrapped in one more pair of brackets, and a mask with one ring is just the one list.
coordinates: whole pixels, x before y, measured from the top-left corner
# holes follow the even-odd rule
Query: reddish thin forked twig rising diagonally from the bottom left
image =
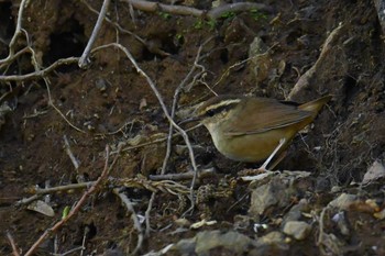
[(95, 183), (82, 194), (82, 197), (80, 198), (80, 200), (76, 203), (76, 205), (70, 210), (70, 212), (68, 213), (67, 216), (63, 218), (59, 222), (57, 222), (53, 227), (47, 229), (43, 235), (41, 235), (41, 237), (38, 237), (38, 240), (31, 246), (31, 248), (25, 253), (25, 256), (30, 256), (32, 255), (35, 249), (53, 233), (55, 233), (56, 231), (58, 231), (66, 222), (68, 222), (68, 220), (75, 215), (80, 208), (82, 207), (82, 204), (85, 203), (86, 199), (92, 194), (98, 187), (101, 185), (101, 182), (107, 179), (107, 176), (109, 175), (111, 168), (113, 167), (114, 163), (118, 159), (119, 154), (116, 156), (113, 163), (111, 164), (111, 166), (108, 166), (108, 162), (109, 162), (109, 156), (110, 156), (110, 149), (109, 146), (106, 146), (106, 162), (105, 162), (105, 168), (103, 171), (101, 172), (101, 175), (99, 176), (99, 178), (97, 179), (97, 181), (95, 181)]

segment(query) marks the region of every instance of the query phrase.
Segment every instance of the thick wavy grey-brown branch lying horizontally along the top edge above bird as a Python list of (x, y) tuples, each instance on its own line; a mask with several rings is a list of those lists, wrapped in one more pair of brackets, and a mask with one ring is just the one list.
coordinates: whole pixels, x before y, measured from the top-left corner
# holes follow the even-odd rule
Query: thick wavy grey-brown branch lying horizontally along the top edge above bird
[(211, 10), (199, 10), (191, 7), (169, 5), (158, 2), (143, 1), (143, 0), (121, 0), (132, 4), (135, 9), (147, 12), (162, 11), (177, 15), (193, 15), (208, 19), (218, 19), (227, 12), (241, 12), (257, 9), (261, 11), (273, 12), (273, 8), (256, 2), (237, 2), (231, 4), (223, 4)]

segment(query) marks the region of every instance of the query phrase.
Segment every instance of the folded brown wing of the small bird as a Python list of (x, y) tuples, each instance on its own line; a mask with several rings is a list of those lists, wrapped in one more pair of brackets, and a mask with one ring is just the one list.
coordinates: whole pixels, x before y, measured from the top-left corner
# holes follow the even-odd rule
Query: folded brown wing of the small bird
[[(244, 102), (239, 108), (248, 115), (235, 116), (224, 131), (226, 135), (246, 135), (267, 132), (274, 129), (285, 127), (298, 123), (311, 115), (311, 112), (299, 110), (293, 104), (285, 104), (274, 99), (250, 98), (255, 101), (252, 104)], [(237, 125), (234, 125), (237, 124)], [(237, 129), (233, 129), (237, 126)]]

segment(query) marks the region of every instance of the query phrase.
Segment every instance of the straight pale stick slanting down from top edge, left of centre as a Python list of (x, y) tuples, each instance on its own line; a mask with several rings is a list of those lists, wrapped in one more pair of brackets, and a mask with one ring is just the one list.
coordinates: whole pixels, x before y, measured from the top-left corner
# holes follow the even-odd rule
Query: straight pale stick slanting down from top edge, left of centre
[(82, 52), (81, 57), (79, 58), (78, 65), (79, 65), (80, 68), (86, 68), (89, 65), (89, 63), (90, 63), (88, 57), (89, 57), (91, 48), (92, 48), (92, 46), (95, 44), (95, 41), (98, 37), (98, 34), (99, 34), (100, 29), (101, 29), (101, 24), (103, 23), (103, 20), (106, 18), (106, 13), (107, 13), (108, 8), (110, 5), (110, 2), (111, 2), (111, 0), (105, 0), (103, 4), (101, 5), (101, 10), (100, 10), (97, 23), (95, 24), (92, 34), (91, 34), (88, 43), (87, 43), (85, 52)]

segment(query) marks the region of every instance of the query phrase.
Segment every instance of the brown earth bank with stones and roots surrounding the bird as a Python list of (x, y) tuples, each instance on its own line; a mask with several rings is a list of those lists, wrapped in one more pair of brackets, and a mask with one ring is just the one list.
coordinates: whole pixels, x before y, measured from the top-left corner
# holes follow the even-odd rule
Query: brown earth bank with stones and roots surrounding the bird
[[(36, 255), (80, 255), (81, 246), (81, 255), (385, 255), (384, 31), (375, 1), (267, 0), (216, 19), (112, 1), (86, 68), (78, 57), (102, 1), (26, 2), (20, 12), (19, 1), (0, 1), (1, 255), (24, 255), (91, 185), (21, 200), (97, 180), (106, 145), (108, 178)], [(209, 172), (196, 180), (189, 211), (193, 176), (177, 178), (194, 170), (186, 143), (174, 136), (170, 175), (160, 176), (169, 122), (122, 48), (169, 113), (182, 88), (176, 122), (212, 91), (332, 100), (294, 140), (280, 172), (252, 183), (240, 176), (258, 164), (227, 159), (204, 127), (188, 132), (198, 169)], [(375, 177), (363, 181), (373, 165)]]

